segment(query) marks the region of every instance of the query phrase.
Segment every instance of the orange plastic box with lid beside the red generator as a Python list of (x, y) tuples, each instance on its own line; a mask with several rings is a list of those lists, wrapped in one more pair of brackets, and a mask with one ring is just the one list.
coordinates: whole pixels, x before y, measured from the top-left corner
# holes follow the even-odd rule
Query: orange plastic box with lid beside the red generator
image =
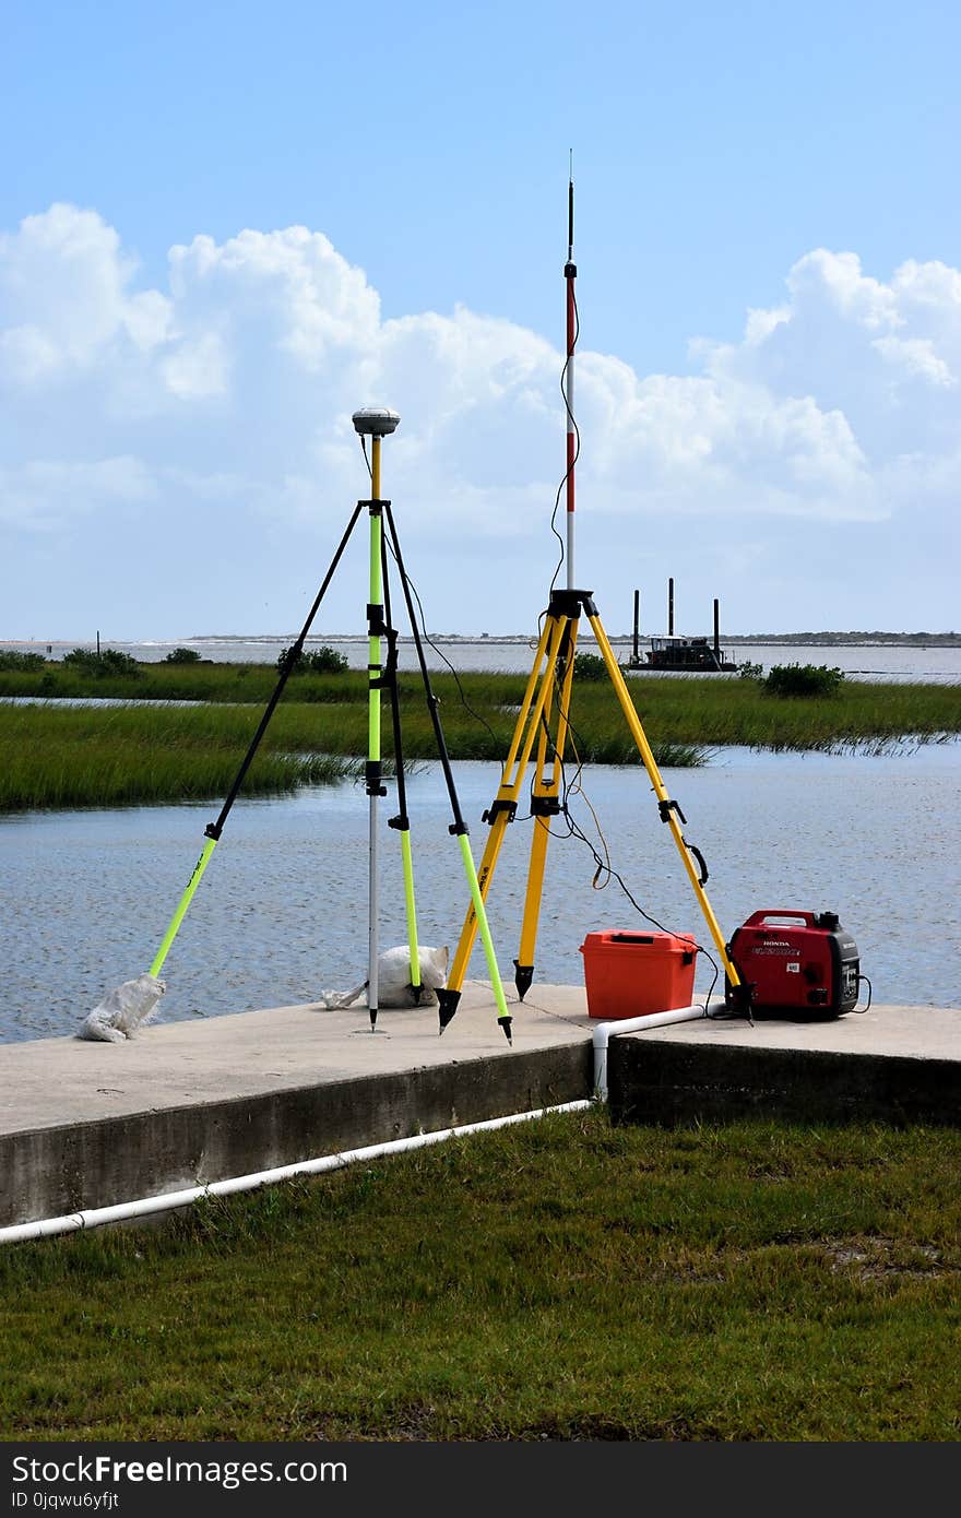
[(589, 1017), (645, 1017), (694, 1000), (692, 934), (588, 934), (580, 952)]

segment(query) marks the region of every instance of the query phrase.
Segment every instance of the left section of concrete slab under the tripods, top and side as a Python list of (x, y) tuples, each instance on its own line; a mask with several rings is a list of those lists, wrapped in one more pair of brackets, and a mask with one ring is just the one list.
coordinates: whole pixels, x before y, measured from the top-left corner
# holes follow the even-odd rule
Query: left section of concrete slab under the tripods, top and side
[(592, 1090), (586, 999), (539, 987), (509, 1044), (489, 985), (437, 1008), (279, 1006), (124, 1043), (0, 1046), (0, 1227), (506, 1117)]

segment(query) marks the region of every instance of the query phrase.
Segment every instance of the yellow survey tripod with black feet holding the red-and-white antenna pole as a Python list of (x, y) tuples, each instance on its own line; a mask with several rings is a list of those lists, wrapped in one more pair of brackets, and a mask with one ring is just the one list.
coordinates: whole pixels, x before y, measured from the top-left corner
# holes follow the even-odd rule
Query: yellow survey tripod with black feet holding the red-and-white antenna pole
[[(544, 890), (547, 849), (551, 835), (551, 817), (557, 817), (562, 811), (560, 785), (563, 774), (563, 754), (569, 735), (574, 654), (577, 651), (577, 631), (581, 610), (591, 624), (597, 639), (597, 647), (604, 660), (610, 683), (613, 685), (615, 695), (621, 710), (624, 712), (624, 720), (630, 729), (635, 744), (638, 745), (638, 753), (641, 754), (641, 761), (647, 770), (654, 795), (657, 797), (660, 821), (666, 823), (671, 829), (671, 835), (677, 844), (685, 870), (688, 871), (694, 894), (721, 956), (724, 972), (732, 990), (736, 993), (741, 988), (741, 978), (727, 955), (724, 937), (711, 908), (711, 902), (704, 894), (707, 867), (704, 865), (700, 850), (695, 849), (694, 844), (689, 844), (683, 835), (682, 824), (686, 823), (686, 817), (677, 802), (673, 802), (668, 795), (657, 762), (651, 751), (651, 745), (647, 741), (635, 703), (630, 698), (624, 676), (621, 674), (618, 660), (613, 654), (610, 642), (607, 641), (607, 633), (601, 625), (597, 606), (592, 600), (592, 592), (566, 589), (554, 591), (551, 594), (551, 601), (544, 621), (544, 630), (537, 644), (537, 653), (534, 654), (534, 663), (524, 691), (521, 712), (518, 713), (507, 759), (504, 761), (501, 783), (490, 808), (483, 814), (483, 821), (489, 823), (490, 832), (487, 835), (484, 855), (477, 871), (477, 879), (481, 899), (486, 900), (487, 891), (490, 890), (490, 880), (493, 879), (498, 855), (501, 852), (501, 844), (504, 842), (504, 833), (507, 832), (507, 824), (513, 821), (518, 811), (518, 802), (521, 798), (521, 791), (524, 789), (524, 777), (536, 742), (536, 773), (531, 786), (534, 832), (527, 873), (521, 946), (518, 958), (515, 959), (515, 984), (518, 987), (518, 994), (521, 1000), (524, 1000), (524, 994), (534, 976), (534, 944), (540, 917), (540, 894)], [(553, 754), (548, 754), (550, 723), (554, 704), (557, 704), (557, 727)], [(440, 1000), (442, 1032), (457, 1011), (457, 1003), (460, 1000), (468, 970), (468, 961), (471, 959), (471, 952), (477, 940), (477, 914), (474, 908), (469, 908), (451, 972), (448, 975), (448, 984), (437, 993)]]

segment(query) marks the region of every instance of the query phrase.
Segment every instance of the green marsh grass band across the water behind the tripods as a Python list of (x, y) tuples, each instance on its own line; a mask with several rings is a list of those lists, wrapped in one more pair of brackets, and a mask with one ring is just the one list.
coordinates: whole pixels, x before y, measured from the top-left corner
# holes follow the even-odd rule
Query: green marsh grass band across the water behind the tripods
[[(38, 674), (0, 672), (0, 809), (219, 797), (229, 789), (276, 674), (269, 665), (140, 665), (134, 676), (94, 679), (50, 665)], [(522, 674), (433, 677), (452, 759), (503, 762)], [(843, 748), (906, 735), (935, 741), (961, 732), (956, 686), (844, 682), (833, 695), (779, 698), (755, 680), (630, 679), (629, 688), (662, 768), (703, 764), (712, 747)], [(405, 759), (437, 756), (416, 676), (401, 676)], [(65, 697), (121, 697), (193, 707), (58, 707)], [(243, 703), (243, 704), (240, 704)], [(246, 792), (284, 791), (336, 779), (367, 750), (366, 676), (295, 676), (287, 685), (246, 782)], [(384, 709), (384, 751), (392, 756)], [(638, 751), (604, 679), (575, 685), (569, 756), (586, 764), (636, 764)]]

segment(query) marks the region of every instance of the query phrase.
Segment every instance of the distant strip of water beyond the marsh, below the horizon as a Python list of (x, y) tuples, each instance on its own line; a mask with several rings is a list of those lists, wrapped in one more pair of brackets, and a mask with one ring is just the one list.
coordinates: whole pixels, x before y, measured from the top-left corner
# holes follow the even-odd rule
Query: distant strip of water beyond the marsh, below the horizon
[[(213, 659), (216, 663), (275, 663), (281, 648), (295, 641), (295, 633), (287, 638), (185, 638), (181, 647), (196, 648), (202, 659)], [(632, 653), (630, 638), (610, 639), (622, 663)], [(336, 635), (319, 635), (308, 638), (307, 647), (316, 648), (328, 644), (331, 648), (346, 654), (352, 669), (367, 666), (366, 638), (339, 638)], [(458, 672), (462, 669), (530, 669), (536, 641), (530, 638), (477, 638), (477, 639), (434, 639), (436, 647), (425, 645), (427, 663), (430, 669), (445, 669), (451, 663)], [(50, 659), (62, 659), (71, 648), (96, 648), (96, 642), (59, 642), (59, 644), (3, 644), (0, 648), (20, 648), (30, 653), (41, 653)], [(169, 642), (106, 642), (102, 647), (120, 648), (123, 653), (156, 663), (176, 647)], [(591, 636), (581, 636), (578, 647), (594, 650)], [(641, 639), (641, 654), (647, 648), (647, 639)], [(721, 639), (724, 648), (724, 641)], [(727, 653), (735, 663), (756, 663), (764, 669), (771, 665), (814, 663), (830, 665), (844, 669), (846, 674), (861, 680), (922, 680), (937, 685), (961, 685), (961, 648), (908, 648), (908, 647), (853, 647), (850, 644), (837, 647), (794, 645), (783, 644), (732, 644)], [(401, 639), (398, 645), (398, 663), (401, 669), (416, 669), (417, 656), (410, 638)], [(657, 680), (657, 674), (644, 674), (644, 679)], [(718, 680), (736, 680), (733, 674), (718, 674)]]

